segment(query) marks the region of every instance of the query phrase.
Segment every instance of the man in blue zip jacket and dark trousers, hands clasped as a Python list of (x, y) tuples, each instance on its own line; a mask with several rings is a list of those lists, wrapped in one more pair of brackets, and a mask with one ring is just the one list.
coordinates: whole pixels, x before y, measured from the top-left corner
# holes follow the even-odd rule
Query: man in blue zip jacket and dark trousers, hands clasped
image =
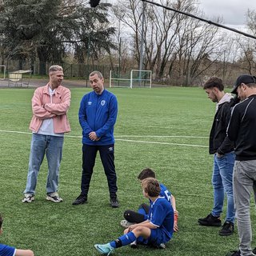
[(114, 94), (105, 90), (102, 73), (90, 73), (90, 86), (93, 91), (83, 96), (78, 113), (82, 127), (82, 182), (81, 194), (73, 205), (87, 202), (90, 179), (99, 151), (110, 190), (110, 205), (116, 208), (118, 187), (114, 166), (114, 124), (118, 115), (118, 101)]

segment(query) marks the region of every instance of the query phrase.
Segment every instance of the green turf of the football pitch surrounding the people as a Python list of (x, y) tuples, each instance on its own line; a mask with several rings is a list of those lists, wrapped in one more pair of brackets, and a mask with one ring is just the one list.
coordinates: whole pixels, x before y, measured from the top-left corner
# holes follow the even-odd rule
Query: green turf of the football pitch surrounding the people
[[(119, 222), (126, 209), (146, 202), (137, 175), (146, 166), (174, 194), (179, 211), (179, 231), (166, 250), (129, 246), (114, 255), (225, 255), (238, 247), (238, 231), (231, 237), (218, 228), (198, 226), (210, 213), (213, 158), (208, 135), (214, 104), (201, 88), (110, 89), (118, 97), (115, 126), (115, 164), (121, 206), (111, 209), (106, 176), (97, 158), (86, 205), (72, 206), (80, 192), (82, 170), (81, 128), (78, 108), (88, 88), (71, 89), (68, 113), (72, 131), (64, 142), (60, 172), (60, 204), (46, 201), (46, 159), (38, 177), (35, 202), (22, 204), (26, 186), (31, 134), (33, 89), (1, 89), (0, 212), (5, 216), (1, 243), (30, 248), (40, 256), (98, 255), (94, 243), (105, 243), (122, 234)], [(254, 206), (252, 202), (252, 207)], [(226, 212), (226, 207), (224, 208)], [(225, 214), (224, 214), (225, 216)], [(223, 218), (224, 218), (223, 216)], [(253, 222), (255, 214), (252, 213)], [(255, 230), (254, 230), (255, 231)]]

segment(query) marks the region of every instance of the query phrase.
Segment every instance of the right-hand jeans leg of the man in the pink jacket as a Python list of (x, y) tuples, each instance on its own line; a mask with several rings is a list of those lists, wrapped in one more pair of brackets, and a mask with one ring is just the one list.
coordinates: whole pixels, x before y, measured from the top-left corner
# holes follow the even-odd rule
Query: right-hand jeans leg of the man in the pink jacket
[(48, 175), (46, 193), (58, 191), (59, 166), (62, 161), (62, 146), (64, 137), (47, 135), (46, 158), (48, 162)]

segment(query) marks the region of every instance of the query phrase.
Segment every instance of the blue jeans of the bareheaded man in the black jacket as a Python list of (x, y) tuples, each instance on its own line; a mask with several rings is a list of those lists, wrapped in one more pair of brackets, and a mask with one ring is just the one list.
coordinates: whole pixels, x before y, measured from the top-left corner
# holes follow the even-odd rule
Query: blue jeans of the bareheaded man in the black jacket
[(218, 158), (214, 154), (214, 170), (212, 184), (214, 187), (214, 208), (211, 212), (215, 217), (222, 213), (224, 193), (226, 193), (226, 221), (234, 223), (234, 194), (233, 194), (233, 169), (234, 152), (224, 154)]

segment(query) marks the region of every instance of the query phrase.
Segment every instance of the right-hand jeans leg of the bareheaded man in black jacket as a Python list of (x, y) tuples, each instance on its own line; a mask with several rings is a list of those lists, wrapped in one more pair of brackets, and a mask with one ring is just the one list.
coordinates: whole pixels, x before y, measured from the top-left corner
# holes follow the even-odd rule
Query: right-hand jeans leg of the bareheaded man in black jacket
[(226, 221), (234, 223), (234, 194), (233, 194), (233, 171), (234, 171), (234, 153), (225, 154), (221, 158), (216, 157), (218, 169), (222, 177), (222, 184), (226, 193)]

